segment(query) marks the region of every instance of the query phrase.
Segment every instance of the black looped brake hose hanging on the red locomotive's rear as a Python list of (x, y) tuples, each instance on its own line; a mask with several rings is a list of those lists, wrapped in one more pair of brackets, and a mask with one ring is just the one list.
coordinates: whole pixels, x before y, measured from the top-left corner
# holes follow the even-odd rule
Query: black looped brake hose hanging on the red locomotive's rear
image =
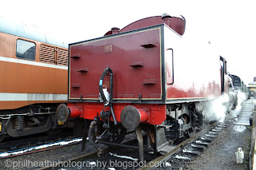
[[(110, 73), (110, 101), (107, 101), (106, 100), (106, 97), (103, 93), (103, 80), (104, 80), (104, 77), (106, 76), (107, 73)], [(112, 97), (113, 97), (113, 71), (112, 69), (110, 68), (106, 68), (104, 69), (103, 73), (102, 73), (102, 76), (99, 80), (99, 86), (98, 86), (98, 89), (99, 89), (99, 93), (101, 94), (102, 96), (102, 100), (103, 102), (106, 104), (106, 105), (109, 105), (110, 106), (110, 112), (111, 112), (111, 115), (113, 117), (113, 120), (114, 120), (114, 125), (117, 125), (117, 121), (114, 117), (114, 110), (113, 110), (113, 106), (112, 106)]]

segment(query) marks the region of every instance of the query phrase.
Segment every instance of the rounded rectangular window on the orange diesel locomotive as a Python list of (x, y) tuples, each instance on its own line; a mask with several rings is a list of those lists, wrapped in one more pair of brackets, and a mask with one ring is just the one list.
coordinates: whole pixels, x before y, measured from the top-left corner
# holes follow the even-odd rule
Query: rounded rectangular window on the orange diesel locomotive
[(34, 61), (35, 59), (35, 43), (25, 40), (17, 40), (16, 57), (25, 60)]

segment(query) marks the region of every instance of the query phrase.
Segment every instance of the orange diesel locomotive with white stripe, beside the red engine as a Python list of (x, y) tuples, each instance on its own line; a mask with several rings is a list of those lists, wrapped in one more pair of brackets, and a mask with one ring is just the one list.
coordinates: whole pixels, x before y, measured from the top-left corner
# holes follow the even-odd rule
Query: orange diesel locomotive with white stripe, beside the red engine
[(63, 126), (54, 115), (67, 100), (67, 62), (63, 42), (0, 18), (0, 140)]

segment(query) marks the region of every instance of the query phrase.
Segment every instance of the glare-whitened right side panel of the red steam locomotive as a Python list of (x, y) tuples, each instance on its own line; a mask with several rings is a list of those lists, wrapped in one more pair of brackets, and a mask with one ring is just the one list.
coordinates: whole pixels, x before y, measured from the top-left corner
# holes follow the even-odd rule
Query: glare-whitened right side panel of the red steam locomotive
[(219, 56), (209, 44), (195, 44), (165, 27), (164, 45), (168, 101), (222, 95)]

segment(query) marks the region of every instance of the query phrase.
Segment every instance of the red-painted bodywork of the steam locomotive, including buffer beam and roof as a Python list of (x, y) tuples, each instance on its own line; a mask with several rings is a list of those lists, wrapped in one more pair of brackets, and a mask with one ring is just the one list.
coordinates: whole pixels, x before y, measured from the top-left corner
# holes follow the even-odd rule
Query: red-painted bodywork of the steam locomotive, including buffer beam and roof
[[(166, 120), (166, 105), (222, 95), (219, 56), (208, 44), (194, 45), (180, 36), (184, 19), (144, 18), (117, 31), (70, 45), (70, 56), (79, 57), (70, 57), (68, 106), (82, 108), (81, 114), (71, 115), (93, 120), (103, 109), (110, 110), (98, 100), (106, 67), (113, 70), (112, 104), (118, 122), (127, 105), (140, 110), (145, 123), (160, 125)], [(81, 68), (86, 72), (78, 71)], [(109, 76), (103, 85), (110, 91)]]

